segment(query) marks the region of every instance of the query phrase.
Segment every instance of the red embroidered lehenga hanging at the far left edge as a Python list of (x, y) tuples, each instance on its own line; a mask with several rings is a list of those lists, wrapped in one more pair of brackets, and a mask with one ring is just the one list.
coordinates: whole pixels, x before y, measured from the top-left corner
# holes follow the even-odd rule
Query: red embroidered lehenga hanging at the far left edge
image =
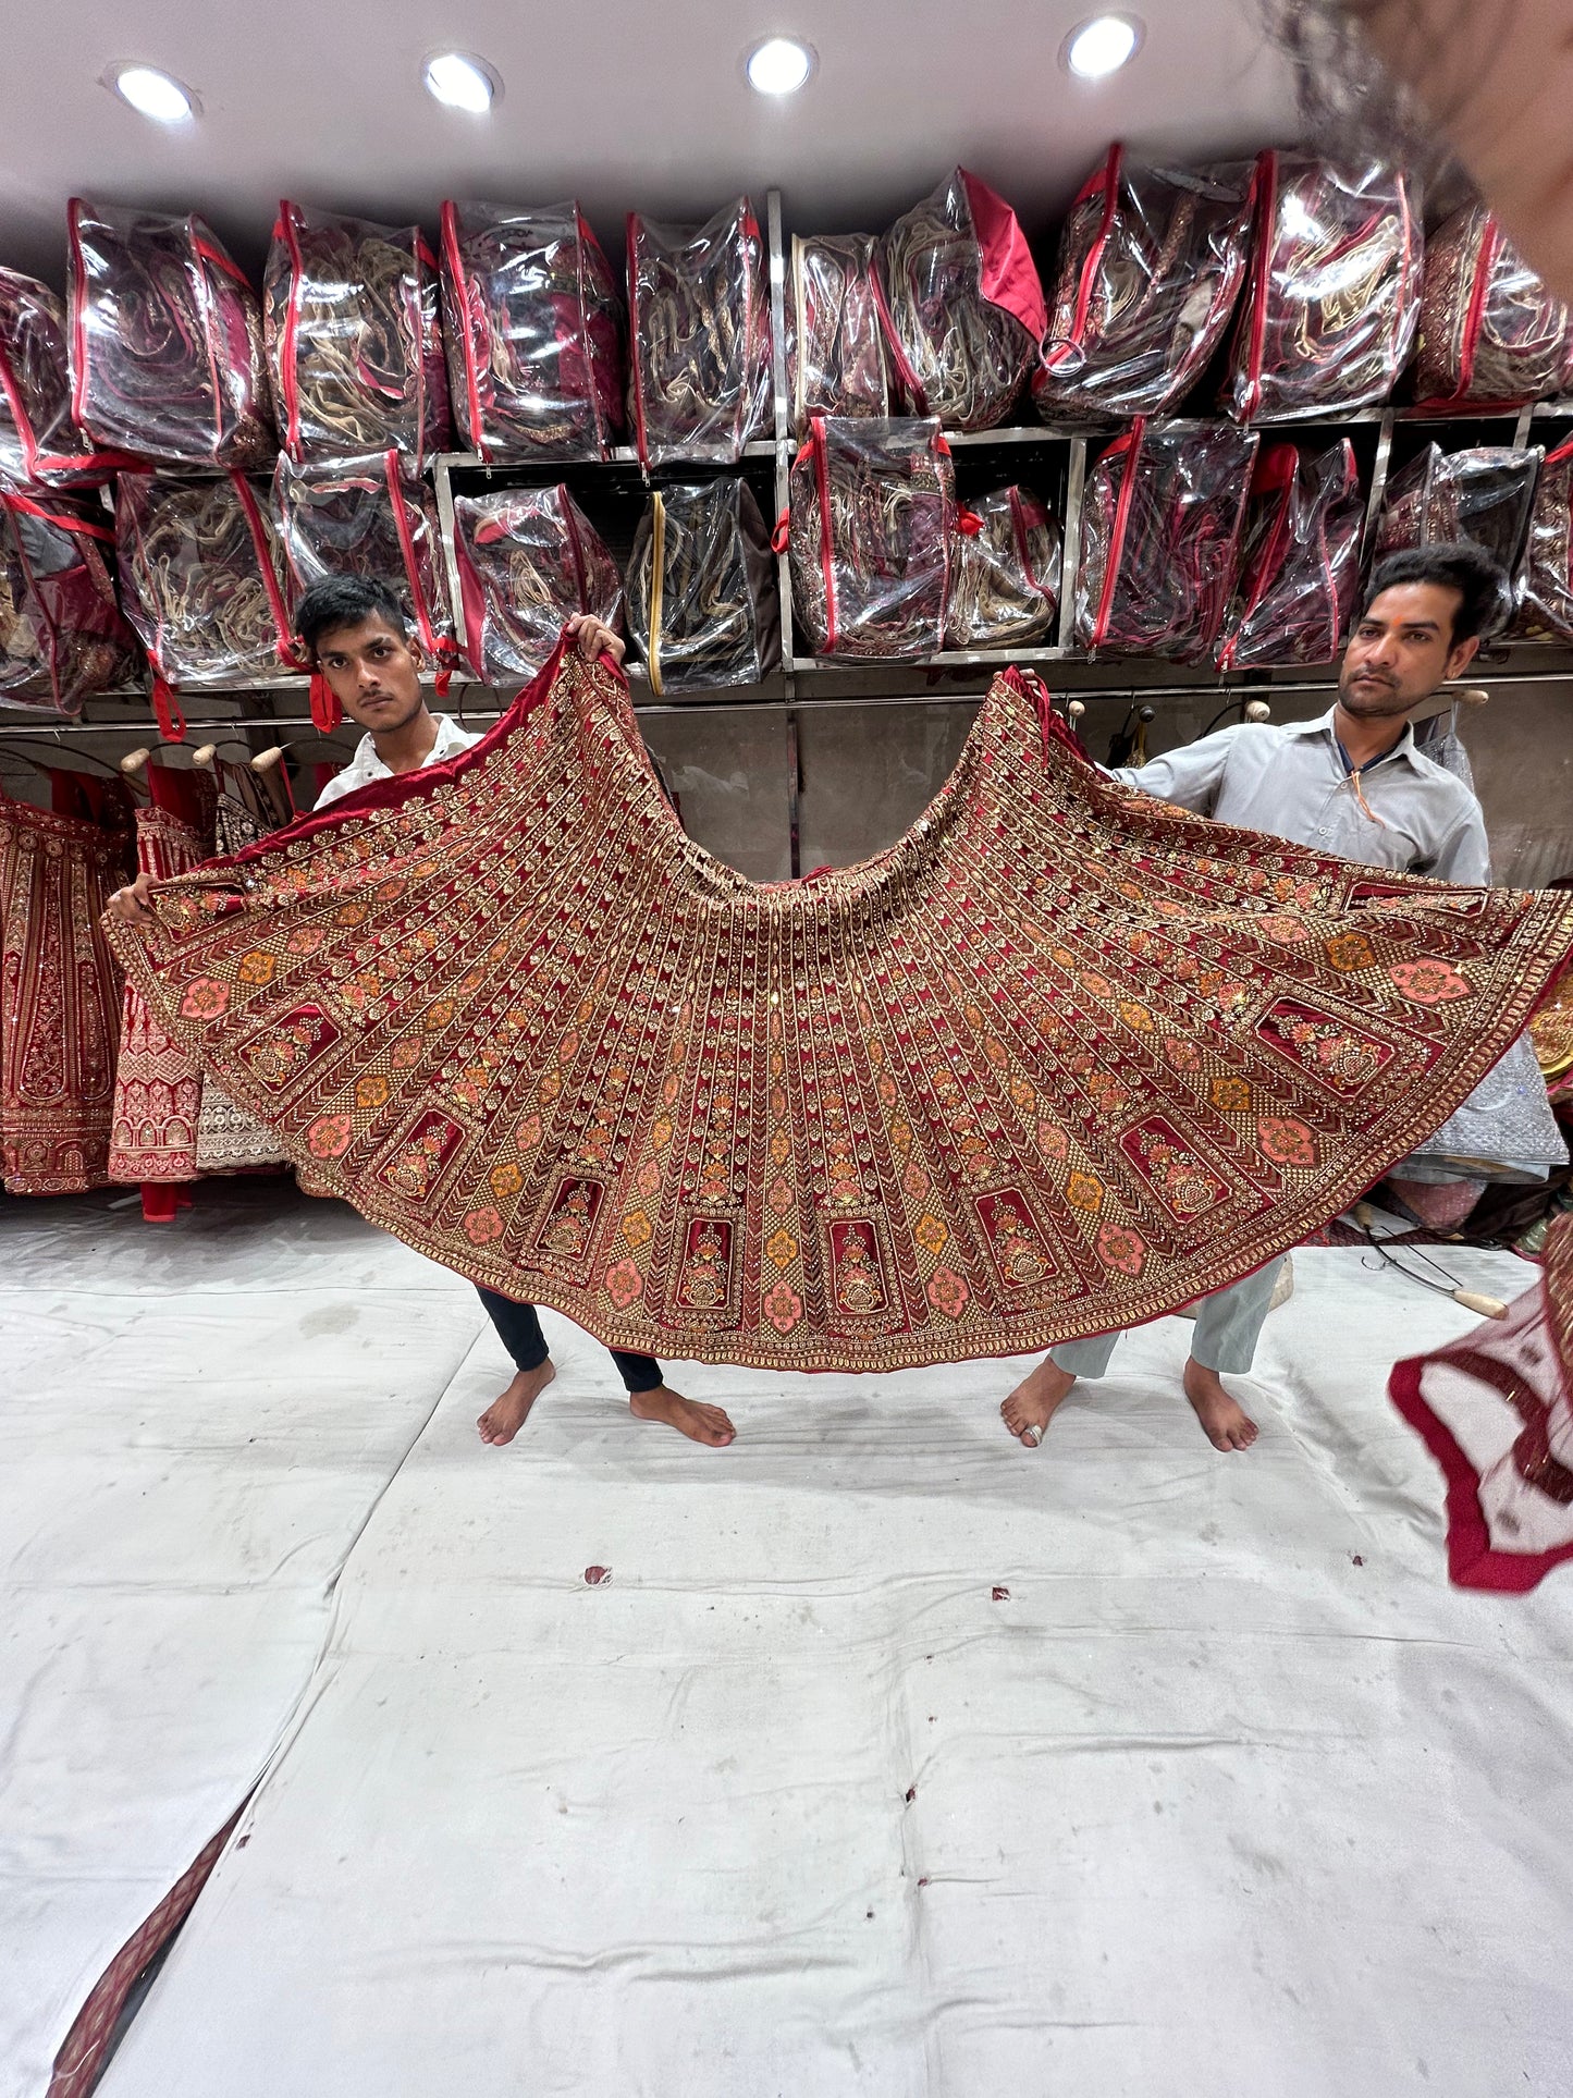
[[(103, 1187), (120, 967), (103, 908), (130, 866), (120, 783), (50, 776), (55, 810), (0, 795), (0, 1169), (8, 1194)], [(107, 818), (94, 820), (94, 818)]]

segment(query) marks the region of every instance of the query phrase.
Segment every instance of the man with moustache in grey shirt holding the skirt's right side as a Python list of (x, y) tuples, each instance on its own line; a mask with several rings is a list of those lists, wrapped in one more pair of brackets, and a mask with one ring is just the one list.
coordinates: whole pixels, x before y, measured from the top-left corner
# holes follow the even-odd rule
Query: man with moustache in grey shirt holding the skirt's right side
[[(1474, 661), (1508, 604), (1506, 577), (1472, 545), (1393, 554), (1376, 569), (1344, 648), (1338, 701), (1315, 722), (1242, 722), (1112, 778), (1198, 816), (1288, 837), (1363, 866), (1489, 881), (1481, 804), (1414, 743), (1409, 715)], [(1248, 1450), (1256, 1425), (1223, 1389), (1256, 1351), (1281, 1261), (1202, 1301), (1185, 1397), (1216, 1450)], [(1101, 1376), (1118, 1332), (1051, 1349), (1000, 1406), (1028, 1448), (1078, 1376)]]

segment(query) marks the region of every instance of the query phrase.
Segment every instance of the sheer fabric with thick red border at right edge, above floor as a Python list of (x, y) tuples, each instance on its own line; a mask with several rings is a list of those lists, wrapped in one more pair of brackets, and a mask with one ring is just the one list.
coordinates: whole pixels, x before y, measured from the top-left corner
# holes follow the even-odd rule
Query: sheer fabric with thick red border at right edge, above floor
[(1399, 1362), (1388, 1391), (1447, 1479), (1460, 1588), (1533, 1588), (1573, 1559), (1573, 1217), (1506, 1320)]

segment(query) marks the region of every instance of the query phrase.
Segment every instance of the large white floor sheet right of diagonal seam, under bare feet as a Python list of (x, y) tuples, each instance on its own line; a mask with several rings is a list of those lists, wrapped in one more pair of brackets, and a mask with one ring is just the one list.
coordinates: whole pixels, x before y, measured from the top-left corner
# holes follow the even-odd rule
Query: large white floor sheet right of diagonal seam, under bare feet
[(105, 2098), (1563, 2098), (1565, 1597), (1445, 1582), (1384, 1376), (1470, 1315), (1296, 1284), (1244, 1456), (1179, 1320), (1040, 1452), (1019, 1362), (682, 1366), (698, 1450), (556, 1320), (480, 1452), (472, 1360)]

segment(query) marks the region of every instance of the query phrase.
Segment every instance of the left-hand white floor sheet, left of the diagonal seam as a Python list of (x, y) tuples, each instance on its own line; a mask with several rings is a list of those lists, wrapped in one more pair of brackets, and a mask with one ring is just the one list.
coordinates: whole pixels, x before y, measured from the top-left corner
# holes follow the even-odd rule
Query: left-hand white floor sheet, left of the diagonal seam
[[(124, 1202), (124, 1198), (120, 1198)], [(256, 1783), (482, 1320), (338, 1204), (0, 1204), (0, 2094)], [(132, 1198), (134, 1202), (134, 1198)]]

